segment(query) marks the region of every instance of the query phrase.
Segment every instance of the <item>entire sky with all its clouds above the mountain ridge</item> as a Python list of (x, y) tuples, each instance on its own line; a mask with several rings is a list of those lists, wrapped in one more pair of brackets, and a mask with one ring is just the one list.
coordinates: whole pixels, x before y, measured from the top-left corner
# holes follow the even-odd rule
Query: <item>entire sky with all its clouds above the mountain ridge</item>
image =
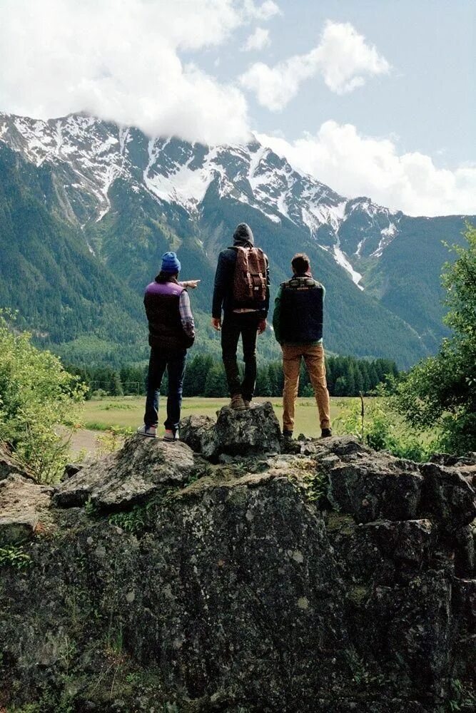
[(476, 215), (475, 0), (0, 0), (0, 111), (88, 111)]

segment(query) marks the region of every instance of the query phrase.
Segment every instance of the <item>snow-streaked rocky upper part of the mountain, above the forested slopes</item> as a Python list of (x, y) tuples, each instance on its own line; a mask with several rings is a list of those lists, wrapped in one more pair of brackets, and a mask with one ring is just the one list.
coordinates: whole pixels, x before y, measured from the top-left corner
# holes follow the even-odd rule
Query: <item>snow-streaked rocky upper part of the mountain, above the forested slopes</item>
[[(191, 214), (200, 212), (213, 187), (220, 198), (248, 203), (273, 222), (290, 220), (308, 230), (322, 247), (331, 248), (360, 289), (362, 276), (350, 260), (380, 257), (398, 232), (397, 214), (368, 198), (343, 198), (256, 140), (204, 146), (177, 138), (148, 139), (136, 128), (84, 114), (43, 121), (0, 113), (0, 141), (36, 166), (49, 162), (62, 169), (69, 198), (76, 192), (92, 200), (86, 222), (106, 215), (108, 192), (118, 178), (136, 193), (145, 190)], [(71, 200), (70, 220), (77, 203)]]

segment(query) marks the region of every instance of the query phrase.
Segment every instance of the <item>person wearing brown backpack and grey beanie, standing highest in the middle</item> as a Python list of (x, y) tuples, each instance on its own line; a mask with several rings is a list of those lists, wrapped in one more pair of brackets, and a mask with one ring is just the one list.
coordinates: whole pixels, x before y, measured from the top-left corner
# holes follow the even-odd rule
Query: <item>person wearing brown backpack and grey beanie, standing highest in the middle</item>
[[(223, 324), (221, 313), (223, 309)], [(256, 337), (266, 329), (269, 309), (269, 267), (263, 250), (254, 247), (253, 232), (240, 223), (233, 247), (218, 255), (211, 324), (221, 330), (221, 350), (231, 409), (250, 407), (256, 383)], [(236, 350), (243, 343), (245, 375), (240, 381)]]

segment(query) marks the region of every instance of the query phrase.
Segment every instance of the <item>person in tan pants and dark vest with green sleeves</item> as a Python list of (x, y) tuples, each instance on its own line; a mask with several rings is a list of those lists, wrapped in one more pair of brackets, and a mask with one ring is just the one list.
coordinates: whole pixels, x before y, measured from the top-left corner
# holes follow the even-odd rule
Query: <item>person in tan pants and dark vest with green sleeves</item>
[(283, 436), (293, 438), (299, 370), (304, 359), (318, 404), (321, 438), (332, 436), (329, 392), (325, 381), (323, 306), (325, 287), (313, 279), (307, 255), (291, 260), (293, 277), (282, 282), (275, 299), (273, 329), (283, 350)]

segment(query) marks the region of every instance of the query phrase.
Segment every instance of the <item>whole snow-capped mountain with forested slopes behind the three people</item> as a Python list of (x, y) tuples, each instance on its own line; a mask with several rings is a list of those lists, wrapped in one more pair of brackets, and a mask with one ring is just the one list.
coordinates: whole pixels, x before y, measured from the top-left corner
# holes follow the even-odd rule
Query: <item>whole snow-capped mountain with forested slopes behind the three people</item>
[[(333, 352), (407, 366), (437, 348), (442, 240), (461, 240), (463, 217), (345, 198), (254, 139), (205, 146), (84, 114), (0, 114), (0, 307), (71, 361), (110, 362), (119, 347), (137, 359), (141, 293), (166, 250), (201, 277), (193, 302), (207, 324), (216, 256), (243, 221), (270, 259), (272, 297), (308, 252)], [(278, 354), (272, 336), (261, 345)], [(198, 348), (218, 349), (215, 335), (201, 329)]]

